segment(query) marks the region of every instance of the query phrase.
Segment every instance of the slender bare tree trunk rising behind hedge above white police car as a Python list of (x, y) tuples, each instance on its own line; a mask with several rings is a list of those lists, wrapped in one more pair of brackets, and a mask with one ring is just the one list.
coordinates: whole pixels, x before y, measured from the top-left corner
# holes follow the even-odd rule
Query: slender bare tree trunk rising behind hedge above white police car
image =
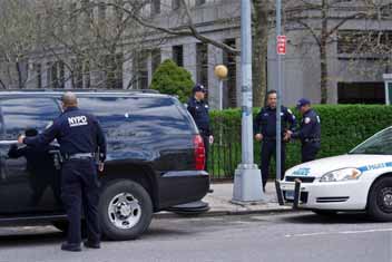
[(321, 90), (321, 104), (326, 104), (329, 100), (327, 84), (329, 84), (329, 67), (326, 61), (326, 48), (327, 48), (327, 3), (323, 0), (322, 6), (322, 28), (320, 39), (320, 90)]

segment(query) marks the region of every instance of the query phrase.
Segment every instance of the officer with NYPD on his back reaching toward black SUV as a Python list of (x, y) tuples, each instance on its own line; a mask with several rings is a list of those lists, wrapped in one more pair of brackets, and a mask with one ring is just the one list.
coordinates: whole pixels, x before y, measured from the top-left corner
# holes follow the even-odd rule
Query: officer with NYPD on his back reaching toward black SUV
[[(41, 147), (57, 138), (65, 158), (61, 168), (61, 198), (69, 221), (68, 240), (61, 245), (65, 251), (81, 251), (80, 220), (85, 208), (87, 222), (86, 248), (100, 248), (98, 220), (99, 183), (97, 164), (104, 171), (106, 139), (95, 116), (78, 108), (74, 93), (62, 96), (63, 113), (42, 134), (36, 137), (20, 136), (19, 143)], [(99, 152), (99, 163), (96, 153)]]

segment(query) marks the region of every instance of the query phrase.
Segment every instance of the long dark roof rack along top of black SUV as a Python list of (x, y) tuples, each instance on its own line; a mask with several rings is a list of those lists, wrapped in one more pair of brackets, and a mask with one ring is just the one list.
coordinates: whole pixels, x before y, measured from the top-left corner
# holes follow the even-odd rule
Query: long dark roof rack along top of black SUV
[(35, 88), (35, 89), (0, 89), (0, 91), (26, 91), (26, 93), (38, 93), (38, 91), (76, 91), (76, 93), (143, 93), (143, 94), (160, 94), (154, 89), (63, 89), (63, 88)]

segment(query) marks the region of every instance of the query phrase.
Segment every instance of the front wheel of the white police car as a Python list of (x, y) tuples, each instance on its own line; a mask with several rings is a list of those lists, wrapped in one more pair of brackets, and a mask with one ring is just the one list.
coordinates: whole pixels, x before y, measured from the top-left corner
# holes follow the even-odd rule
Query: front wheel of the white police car
[(392, 221), (392, 177), (381, 178), (372, 185), (367, 214), (375, 221)]

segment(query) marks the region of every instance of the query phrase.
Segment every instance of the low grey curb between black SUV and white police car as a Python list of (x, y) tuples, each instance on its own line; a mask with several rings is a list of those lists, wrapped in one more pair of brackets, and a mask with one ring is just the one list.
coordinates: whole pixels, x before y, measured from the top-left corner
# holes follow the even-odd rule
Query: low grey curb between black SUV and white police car
[(290, 213), (290, 212), (306, 212), (305, 210), (293, 210), (293, 208), (270, 208), (270, 210), (244, 210), (244, 211), (225, 211), (216, 210), (208, 211), (202, 214), (194, 215), (178, 215), (171, 212), (156, 213), (154, 219), (184, 219), (184, 217), (214, 217), (214, 216), (226, 216), (226, 215), (249, 215), (249, 214), (274, 214), (274, 213)]

